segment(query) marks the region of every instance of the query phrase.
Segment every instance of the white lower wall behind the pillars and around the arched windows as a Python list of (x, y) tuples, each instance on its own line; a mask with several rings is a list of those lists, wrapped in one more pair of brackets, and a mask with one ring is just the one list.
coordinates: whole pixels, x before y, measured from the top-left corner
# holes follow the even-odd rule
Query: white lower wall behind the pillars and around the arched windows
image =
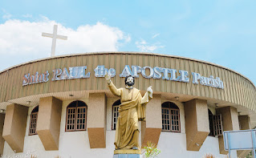
[[(90, 148), (87, 131), (83, 132), (65, 132), (66, 109), (67, 105), (74, 100), (63, 101), (62, 118), (60, 124), (59, 151), (45, 151), (43, 144), (38, 135), (28, 136), (29, 126), (26, 126), (25, 144), (22, 153), (15, 154), (10, 146), (5, 142), (3, 157), (25, 157), (26, 155), (34, 155), (47, 158), (112, 158), (114, 151), (115, 131), (112, 131), (112, 103), (118, 98), (110, 98), (107, 100), (107, 132), (106, 132), (106, 148)], [(88, 103), (88, 100), (82, 100)], [(168, 100), (162, 100), (162, 103)], [(208, 136), (199, 152), (186, 151), (186, 135), (185, 135), (185, 115), (183, 103), (174, 102), (180, 107), (181, 111), (181, 133), (161, 132), (158, 148), (161, 149), (160, 158), (179, 157), (179, 158), (201, 158), (206, 153), (212, 153), (218, 158), (224, 158), (225, 155), (219, 154), (217, 137)], [(87, 104), (88, 105), (88, 104)], [(34, 107), (29, 108), (27, 115), (27, 124), (30, 123), (30, 112)], [(141, 139), (141, 138), (140, 138)], [(28, 156), (30, 157), (30, 156)], [(236, 152), (233, 152), (232, 158), (235, 158)]]

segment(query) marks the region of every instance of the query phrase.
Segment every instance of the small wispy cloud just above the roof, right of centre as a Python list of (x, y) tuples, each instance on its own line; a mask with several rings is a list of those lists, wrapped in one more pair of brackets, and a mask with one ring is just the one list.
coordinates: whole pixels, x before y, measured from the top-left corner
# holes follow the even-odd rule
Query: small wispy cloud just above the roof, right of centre
[(140, 51), (156, 51), (156, 49), (163, 48), (165, 46), (161, 46), (160, 43), (154, 43), (149, 45), (144, 39), (140, 39), (140, 41), (136, 42), (136, 47), (139, 48)]

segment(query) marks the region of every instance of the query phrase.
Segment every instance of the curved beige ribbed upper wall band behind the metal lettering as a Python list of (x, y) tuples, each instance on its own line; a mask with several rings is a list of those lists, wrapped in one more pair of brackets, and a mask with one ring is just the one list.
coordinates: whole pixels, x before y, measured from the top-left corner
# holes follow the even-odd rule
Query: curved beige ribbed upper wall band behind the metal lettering
[[(127, 52), (67, 55), (10, 68), (10, 70), (0, 73), (0, 91), (2, 91), (0, 94), (0, 103), (10, 99), (60, 91), (108, 90), (104, 78), (95, 78), (94, 76), (94, 69), (98, 65), (116, 69), (116, 76), (112, 78), (116, 87), (124, 86), (124, 79), (120, 78), (119, 75), (125, 65), (129, 65), (130, 67), (132, 65), (138, 65), (140, 67), (167, 67), (177, 69), (177, 71), (189, 71), (189, 83), (173, 82), (163, 79), (144, 79), (140, 75), (140, 78), (136, 79), (135, 86), (140, 90), (146, 90), (149, 85), (152, 85), (154, 91), (189, 95), (201, 99), (218, 99), (242, 105), (251, 110), (256, 109), (256, 89), (253, 83), (234, 71), (194, 59), (185, 59), (171, 55)], [(26, 73), (33, 75), (36, 71), (39, 71), (39, 73), (49, 71), (52, 77), (52, 69), (54, 68), (79, 66), (87, 66), (87, 72), (91, 72), (89, 79), (67, 79), (52, 82), (50, 78), (50, 81), (47, 83), (37, 83), (22, 87), (22, 77)], [(225, 86), (224, 90), (202, 86), (201, 84), (193, 84), (191, 72), (197, 72), (206, 77), (209, 77), (209, 75), (220, 77)]]

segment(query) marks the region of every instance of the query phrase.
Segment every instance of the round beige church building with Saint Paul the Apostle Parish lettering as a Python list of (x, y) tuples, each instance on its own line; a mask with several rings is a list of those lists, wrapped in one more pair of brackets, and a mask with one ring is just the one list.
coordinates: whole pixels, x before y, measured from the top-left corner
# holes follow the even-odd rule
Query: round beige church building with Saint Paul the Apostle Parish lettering
[(0, 72), (2, 157), (112, 158), (120, 97), (107, 72), (117, 88), (127, 75), (141, 95), (152, 86), (139, 140), (160, 158), (224, 158), (223, 132), (256, 126), (256, 87), (227, 67), (143, 52), (62, 55)]

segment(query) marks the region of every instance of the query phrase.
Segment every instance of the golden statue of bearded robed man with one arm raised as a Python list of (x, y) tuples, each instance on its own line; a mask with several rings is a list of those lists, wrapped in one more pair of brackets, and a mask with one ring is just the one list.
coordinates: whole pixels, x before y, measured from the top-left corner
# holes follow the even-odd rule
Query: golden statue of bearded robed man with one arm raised
[(108, 87), (114, 95), (121, 97), (119, 116), (116, 124), (115, 145), (116, 150), (138, 149), (139, 128), (138, 121), (145, 120), (145, 105), (152, 99), (152, 87), (142, 97), (140, 90), (133, 87), (134, 77), (128, 75), (125, 78), (125, 88), (117, 89), (110, 80), (108, 73), (105, 75)]

